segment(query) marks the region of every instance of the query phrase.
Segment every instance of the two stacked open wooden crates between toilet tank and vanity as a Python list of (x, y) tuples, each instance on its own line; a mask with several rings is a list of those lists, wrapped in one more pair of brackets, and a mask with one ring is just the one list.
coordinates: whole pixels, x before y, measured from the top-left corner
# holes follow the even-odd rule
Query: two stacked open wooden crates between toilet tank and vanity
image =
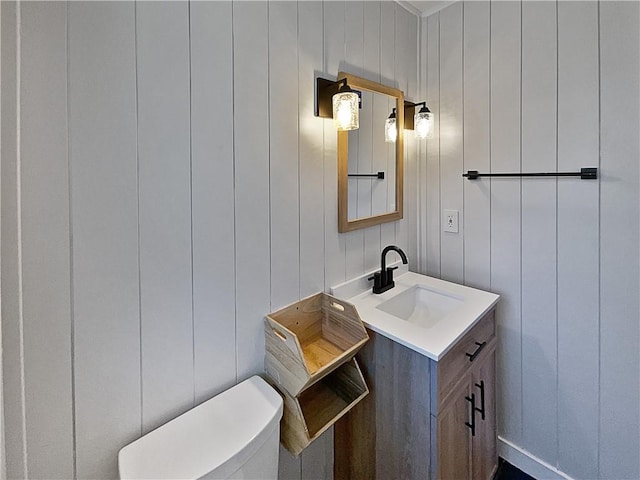
[(299, 455), (369, 390), (355, 354), (369, 339), (355, 307), (326, 293), (265, 321), (265, 370), (284, 398), (281, 443)]

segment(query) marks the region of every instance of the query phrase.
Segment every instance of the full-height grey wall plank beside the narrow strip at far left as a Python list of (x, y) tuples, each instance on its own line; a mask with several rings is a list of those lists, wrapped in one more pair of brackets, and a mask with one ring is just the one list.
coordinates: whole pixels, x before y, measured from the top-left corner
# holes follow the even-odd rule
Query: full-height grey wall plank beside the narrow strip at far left
[[(48, 398), (49, 402), (28, 405), (25, 415), (26, 441), (38, 449), (39, 460), (30, 459), (29, 472), (47, 475), (47, 465), (57, 464), (60, 476), (73, 475), (71, 337), (69, 335), (70, 240), (69, 169), (67, 161), (67, 52), (65, 5), (24, 5), (20, 93), (20, 156), (22, 162), (21, 222), (22, 312), (25, 356), (24, 394), (26, 398)], [(48, 79), (48, 89), (36, 86), (38, 78)], [(52, 95), (59, 91), (61, 95)], [(28, 92), (28, 93), (27, 93)], [(42, 159), (33, 168), (34, 159)], [(46, 231), (47, 235), (39, 232)], [(59, 251), (51, 255), (51, 250)], [(60, 279), (65, 279), (59, 283)], [(42, 322), (49, 324), (41, 335)], [(48, 348), (51, 343), (58, 349)], [(42, 378), (38, 372), (48, 370)], [(51, 411), (56, 415), (51, 415)], [(45, 428), (42, 428), (42, 425)], [(60, 438), (56, 432), (65, 432)], [(58, 458), (66, 458), (59, 462)]]

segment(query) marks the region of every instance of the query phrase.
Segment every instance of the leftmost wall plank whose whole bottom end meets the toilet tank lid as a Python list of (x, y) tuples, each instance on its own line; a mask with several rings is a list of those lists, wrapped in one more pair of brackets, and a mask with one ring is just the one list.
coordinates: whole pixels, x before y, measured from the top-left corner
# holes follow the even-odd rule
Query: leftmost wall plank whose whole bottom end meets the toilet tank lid
[(188, 33), (188, 4), (136, 5), (143, 433), (194, 396)]

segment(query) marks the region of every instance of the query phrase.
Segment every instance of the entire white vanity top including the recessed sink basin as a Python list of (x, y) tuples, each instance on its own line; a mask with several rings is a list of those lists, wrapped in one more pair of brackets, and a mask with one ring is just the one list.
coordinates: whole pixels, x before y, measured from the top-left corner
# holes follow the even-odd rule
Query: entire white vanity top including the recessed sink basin
[(371, 291), (371, 273), (331, 289), (358, 310), (366, 327), (433, 360), (441, 359), (498, 302), (498, 295), (413, 272), (395, 287)]

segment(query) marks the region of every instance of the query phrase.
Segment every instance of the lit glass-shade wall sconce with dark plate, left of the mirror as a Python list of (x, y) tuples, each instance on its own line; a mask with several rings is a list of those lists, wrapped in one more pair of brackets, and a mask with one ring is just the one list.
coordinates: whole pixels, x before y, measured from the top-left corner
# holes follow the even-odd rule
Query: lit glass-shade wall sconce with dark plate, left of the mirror
[(338, 130), (356, 130), (360, 126), (360, 95), (349, 87), (347, 79), (337, 82), (316, 79), (316, 117), (333, 118)]

